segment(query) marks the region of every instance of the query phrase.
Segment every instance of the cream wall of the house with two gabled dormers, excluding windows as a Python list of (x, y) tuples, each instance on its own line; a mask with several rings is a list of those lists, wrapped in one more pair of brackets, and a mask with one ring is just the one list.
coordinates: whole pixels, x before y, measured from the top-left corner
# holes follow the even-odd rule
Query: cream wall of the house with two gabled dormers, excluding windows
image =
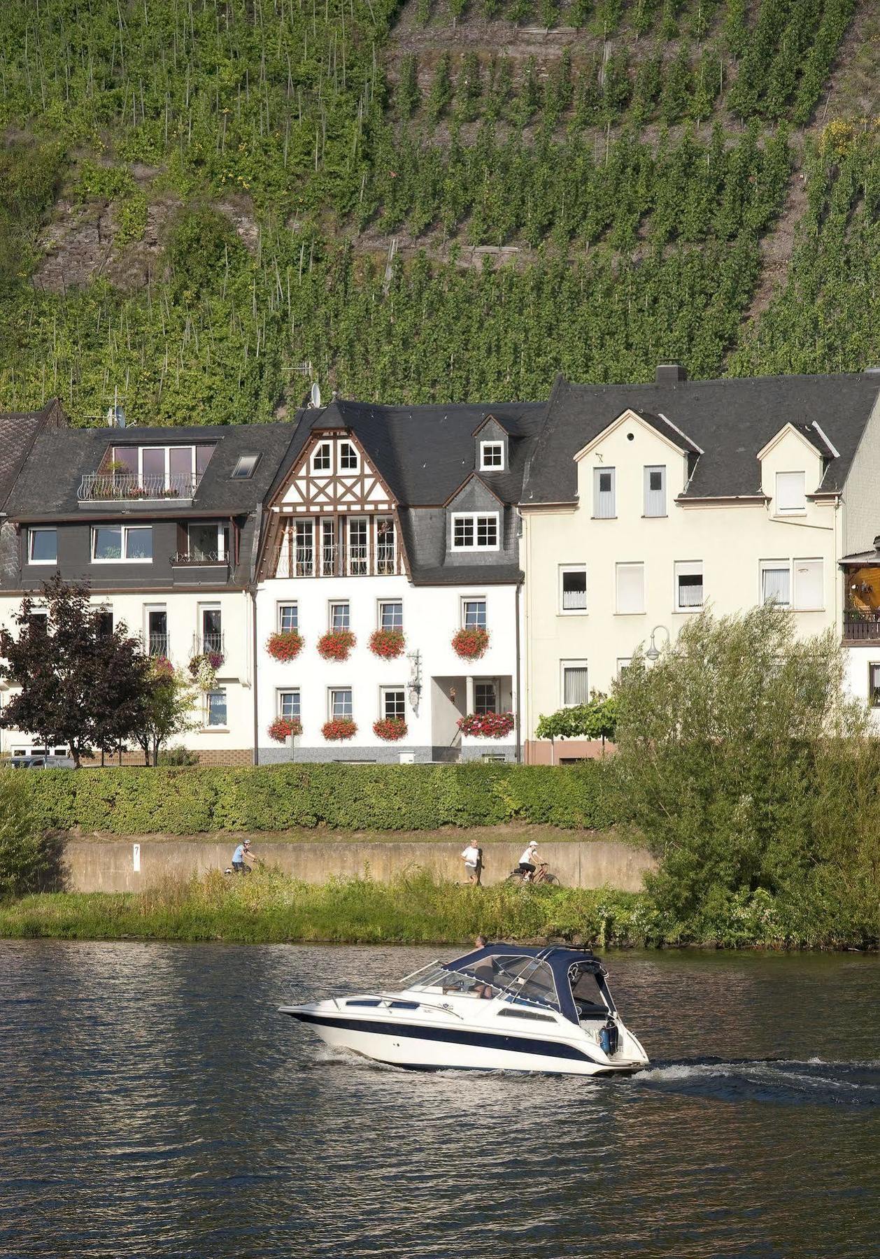
[[(781, 426), (782, 427), (782, 426)], [(760, 598), (760, 562), (821, 559), (821, 606), (796, 613), (801, 635), (841, 622), (842, 510), (837, 500), (807, 499), (804, 510), (781, 515), (776, 473), (803, 471), (807, 495), (822, 477), (816, 449), (794, 429), (768, 443), (763, 466), (755, 458), (754, 494), (769, 502), (675, 501), (686, 483), (687, 461), (652, 427), (627, 415), (577, 456), (578, 502), (572, 507), (524, 507), (526, 696), (524, 739), (534, 737), (541, 714), (563, 704), (561, 665), (585, 661), (590, 690), (608, 691), (619, 661), (647, 646), (651, 631), (662, 647), (666, 631), (677, 637), (692, 612), (676, 609), (676, 562), (702, 562), (704, 601), (715, 614), (739, 612)], [(666, 516), (643, 515), (643, 470), (666, 467)], [(593, 517), (593, 470), (616, 470), (616, 517)], [(616, 611), (616, 565), (643, 563), (645, 611)], [(587, 565), (587, 611), (561, 611), (560, 569)], [(793, 584), (793, 579), (792, 579)], [(561, 748), (563, 745), (560, 745)], [(529, 749), (535, 759), (535, 749)]]

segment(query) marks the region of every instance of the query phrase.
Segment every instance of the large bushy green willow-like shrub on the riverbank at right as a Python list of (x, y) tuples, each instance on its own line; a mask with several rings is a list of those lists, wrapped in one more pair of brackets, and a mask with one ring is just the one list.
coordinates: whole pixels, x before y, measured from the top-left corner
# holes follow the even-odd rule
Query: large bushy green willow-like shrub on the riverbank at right
[[(652, 669), (641, 657), (627, 669), (613, 798), (661, 862), (648, 890), (668, 929), (704, 939), (758, 894), (782, 914), (817, 878), (842, 875), (842, 891), (876, 867), (876, 831), (840, 783), (864, 793), (880, 749), (843, 697), (843, 671), (838, 640), (798, 640), (793, 617), (770, 606), (719, 621), (704, 612)], [(872, 908), (850, 898), (862, 922), (876, 918), (876, 885), (872, 896)]]

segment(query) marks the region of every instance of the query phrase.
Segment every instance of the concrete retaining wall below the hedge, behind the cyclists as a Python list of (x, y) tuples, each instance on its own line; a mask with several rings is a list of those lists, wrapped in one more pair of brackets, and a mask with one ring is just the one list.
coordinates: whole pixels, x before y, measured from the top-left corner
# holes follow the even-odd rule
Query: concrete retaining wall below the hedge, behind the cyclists
[[(267, 864), (306, 883), (368, 874), (388, 880), (415, 866), (443, 879), (465, 881), (461, 851), (467, 832), (434, 841), (335, 841), (311, 842), (253, 837), (253, 850)], [(71, 838), (65, 847), (71, 891), (141, 891), (167, 878), (189, 879), (193, 874), (223, 870), (238, 840), (212, 838)], [(481, 841), (477, 841), (481, 842)], [(505, 879), (519, 861), (522, 838), (483, 842), (483, 883)], [(617, 840), (549, 840), (541, 856), (567, 888), (617, 888), (638, 891), (642, 875), (655, 869), (651, 856)], [(140, 865), (140, 869), (136, 866)]]

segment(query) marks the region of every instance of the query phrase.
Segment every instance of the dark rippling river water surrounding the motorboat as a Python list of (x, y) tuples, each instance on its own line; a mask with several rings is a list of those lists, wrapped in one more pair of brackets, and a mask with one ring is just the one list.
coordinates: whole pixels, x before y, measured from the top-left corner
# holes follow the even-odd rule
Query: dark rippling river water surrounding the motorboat
[(655, 1064), (621, 1080), (276, 1013), (438, 952), (1, 943), (0, 1255), (880, 1256), (880, 959), (612, 953)]

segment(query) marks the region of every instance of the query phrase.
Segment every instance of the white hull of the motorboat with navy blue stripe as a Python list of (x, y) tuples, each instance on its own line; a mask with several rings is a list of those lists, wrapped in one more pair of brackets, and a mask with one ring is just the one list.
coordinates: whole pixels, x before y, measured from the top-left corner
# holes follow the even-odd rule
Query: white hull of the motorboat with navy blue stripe
[(641, 1061), (599, 1061), (585, 1045), (561, 1039), (504, 1035), (481, 1029), (428, 1026), (282, 1007), (335, 1049), (410, 1070), (538, 1071), (561, 1075), (631, 1075)]

